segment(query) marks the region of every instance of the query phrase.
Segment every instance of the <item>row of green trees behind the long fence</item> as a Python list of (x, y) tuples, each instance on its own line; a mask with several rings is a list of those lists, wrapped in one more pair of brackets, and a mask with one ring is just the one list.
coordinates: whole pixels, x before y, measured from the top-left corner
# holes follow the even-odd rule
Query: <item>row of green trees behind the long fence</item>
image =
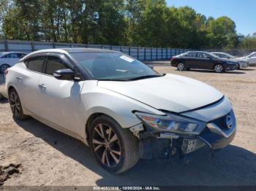
[(165, 0), (1, 0), (1, 39), (176, 48), (256, 48), (229, 17)]

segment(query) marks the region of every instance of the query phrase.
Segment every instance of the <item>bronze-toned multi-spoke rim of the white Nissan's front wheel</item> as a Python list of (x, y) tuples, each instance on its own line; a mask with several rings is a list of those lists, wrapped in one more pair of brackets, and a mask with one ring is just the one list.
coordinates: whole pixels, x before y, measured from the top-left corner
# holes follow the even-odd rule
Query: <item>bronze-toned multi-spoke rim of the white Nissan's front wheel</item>
[(121, 146), (118, 136), (110, 126), (100, 123), (94, 128), (93, 149), (103, 165), (113, 168), (120, 162)]

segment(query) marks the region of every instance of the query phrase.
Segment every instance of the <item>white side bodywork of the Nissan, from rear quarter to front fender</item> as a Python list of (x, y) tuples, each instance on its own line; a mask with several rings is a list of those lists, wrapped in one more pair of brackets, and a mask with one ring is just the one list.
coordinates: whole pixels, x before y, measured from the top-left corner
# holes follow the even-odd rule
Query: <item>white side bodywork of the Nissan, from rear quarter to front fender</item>
[[(9, 72), (10, 75), (8, 74), (5, 85), (6, 92), (9, 87), (15, 87), (23, 103), (24, 114), (31, 115), (50, 127), (85, 143), (86, 122), (91, 114), (108, 114), (122, 128), (130, 128), (141, 123), (132, 113), (133, 110), (164, 114), (151, 106), (98, 87), (97, 80), (81, 82), (59, 80), (29, 71), (25, 67), (20, 62), (9, 69), (11, 72)], [(23, 79), (18, 80), (17, 76)], [(42, 83), (45, 84), (45, 89), (39, 87)]]

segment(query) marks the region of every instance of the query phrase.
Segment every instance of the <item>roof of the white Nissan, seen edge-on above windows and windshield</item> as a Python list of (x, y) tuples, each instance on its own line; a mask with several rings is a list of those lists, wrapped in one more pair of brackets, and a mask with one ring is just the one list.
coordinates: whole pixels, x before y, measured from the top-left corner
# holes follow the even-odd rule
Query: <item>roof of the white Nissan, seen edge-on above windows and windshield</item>
[(106, 49), (99, 49), (99, 48), (54, 48), (54, 49), (44, 49), (44, 50), (37, 50), (34, 52), (29, 53), (22, 58), (22, 60), (29, 58), (31, 55), (35, 55), (38, 53), (75, 53), (75, 52), (118, 52), (113, 50), (106, 50)]

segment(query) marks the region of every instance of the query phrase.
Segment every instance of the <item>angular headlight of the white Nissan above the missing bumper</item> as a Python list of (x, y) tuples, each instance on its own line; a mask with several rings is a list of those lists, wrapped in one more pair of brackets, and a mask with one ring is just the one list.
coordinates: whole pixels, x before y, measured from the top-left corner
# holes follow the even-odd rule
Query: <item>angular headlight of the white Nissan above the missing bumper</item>
[(206, 127), (206, 122), (178, 114), (155, 115), (135, 112), (135, 115), (146, 123), (146, 125), (159, 131), (164, 130), (171, 133), (198, 135)]

